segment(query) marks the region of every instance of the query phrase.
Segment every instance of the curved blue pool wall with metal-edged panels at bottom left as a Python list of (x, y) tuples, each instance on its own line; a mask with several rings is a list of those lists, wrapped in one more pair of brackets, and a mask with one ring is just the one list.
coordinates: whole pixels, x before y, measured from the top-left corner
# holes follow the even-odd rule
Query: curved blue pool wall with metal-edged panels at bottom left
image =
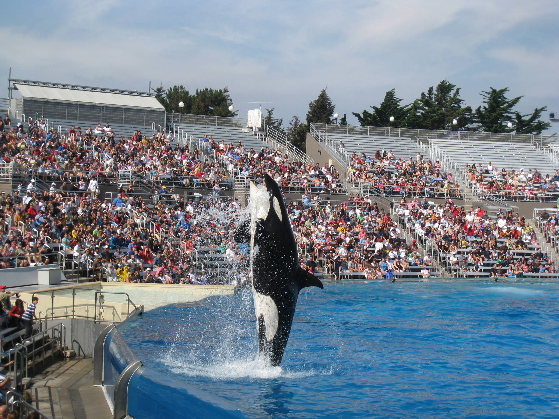
[(144, 366), (132, 353), (119, 327), (109, 325), (98, 336), (94, 354), (94, 382), (103, 386), (116, 419), (125, 418), (262, 418), (192, 385)]

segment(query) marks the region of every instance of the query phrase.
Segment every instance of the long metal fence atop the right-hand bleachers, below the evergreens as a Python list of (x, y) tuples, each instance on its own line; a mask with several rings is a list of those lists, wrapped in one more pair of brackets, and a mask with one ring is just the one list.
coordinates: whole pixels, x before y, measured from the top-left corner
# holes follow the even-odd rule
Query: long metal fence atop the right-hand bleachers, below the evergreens
[(530, 144), (550, 144), (557, 141), (555, 135), (509, 134), (501, 132), (412, 130), (410, 128), (368, 127), (361, 125), (335, 125), (333, 123), (312, 123), (311, 130), (328, 134), (367, 135), (378, 137), (399, 137), (419, 140), (461, 140), (461, 141), (505, 141), (528, 142)]

